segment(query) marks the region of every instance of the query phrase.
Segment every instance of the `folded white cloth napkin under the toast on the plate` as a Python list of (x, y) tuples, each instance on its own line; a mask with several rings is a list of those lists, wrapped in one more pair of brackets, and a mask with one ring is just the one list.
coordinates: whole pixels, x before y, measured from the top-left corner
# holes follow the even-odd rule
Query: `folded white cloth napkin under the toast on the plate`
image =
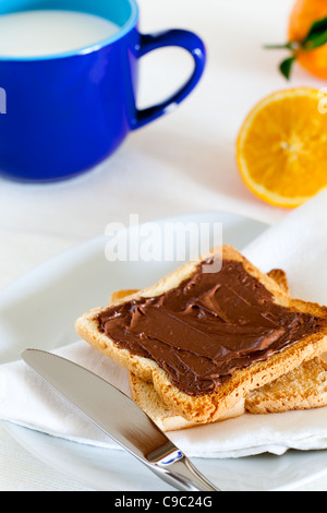
[[(327, 305), (327, 191), (291, 212), (243, 253), (264, 272), (283, 269), (293, 297)], [(129, 393), (126, 372), (85, 342), (77, 341), (56, 353)], [(0, 366), (0, 419), (81, 443), (119, 449), (23, 361)], [(191, 457), (326, 449), (327, 407), (266, 416), (246, 414), (168, 436)]]

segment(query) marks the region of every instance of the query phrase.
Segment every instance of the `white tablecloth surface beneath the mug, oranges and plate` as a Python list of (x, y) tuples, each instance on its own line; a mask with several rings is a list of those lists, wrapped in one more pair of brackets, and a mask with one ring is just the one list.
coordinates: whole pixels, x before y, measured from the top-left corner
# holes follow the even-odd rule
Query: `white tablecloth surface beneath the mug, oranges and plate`
[[(205, 40), (205, 75), (177, 111), (132, 133), (92, 171), (52, 184), (0, 178), (0, 289), (49, 256), (102, 235), (108, 223), (128, 225), (130, 214), (143, 223), (218, 210), (270, 224), (288, 214), (247, 191), (238, 174), (234, 147), (244, 116), (264, 96), (289, 85), (325, 86), (299, 68), (288, 84), (277, 71), (283, 52), (263, 49), (263, 44), (284, 40), (293, 1), (138, 3), (142, 32), (180, 27)], [(140, 106), (175, 90), (191, 64), (183, 50), (172, 48), (144, 57)], [(87, 489), (40, 463), (0, 426), (1, 491)], [(305, 489), (327, 490), (327, 479)]]

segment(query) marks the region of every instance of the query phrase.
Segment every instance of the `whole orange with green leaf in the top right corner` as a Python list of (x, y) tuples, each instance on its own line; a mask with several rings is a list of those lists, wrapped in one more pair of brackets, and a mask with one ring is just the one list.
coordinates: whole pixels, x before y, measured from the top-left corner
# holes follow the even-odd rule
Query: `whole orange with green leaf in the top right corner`
[[(289, 20), (289, 39), (301, 41), (314, 22), (327, 17), (327, 0), (296, 0)], [(327, 80), (327, 44), (311, 51), (299, 51), (298, 62), (313, 75)]]

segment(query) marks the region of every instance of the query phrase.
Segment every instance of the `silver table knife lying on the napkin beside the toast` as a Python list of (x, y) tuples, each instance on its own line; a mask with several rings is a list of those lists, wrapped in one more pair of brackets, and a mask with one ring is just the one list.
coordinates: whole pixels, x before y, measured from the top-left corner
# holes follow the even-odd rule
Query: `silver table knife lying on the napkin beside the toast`
[(39, 349), (23, 360), (95, 426), (170, 486), (182, 491), (219, 491), (134, 401), (89, 370)]

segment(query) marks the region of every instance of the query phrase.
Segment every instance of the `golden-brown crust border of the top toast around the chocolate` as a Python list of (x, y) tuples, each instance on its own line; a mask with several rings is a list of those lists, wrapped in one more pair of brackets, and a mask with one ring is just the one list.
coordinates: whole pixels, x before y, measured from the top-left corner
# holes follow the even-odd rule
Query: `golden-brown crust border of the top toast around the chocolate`
[[(319, 331), (271, 356), (268, 360), (256, 362), (246, 369), (237, 370), (231, 379), (218, 386), (215, 392), (206, 395), (190, 396), (173, 385), (168, 374), (155, 361), (137, 357), (129, 350), (118, 347), (113, 341), (99, 330), (97, 317), (104, 308), (94, 309), (76, 321), (76, 331), (80, 336), (136, 377), (144, 381), (153, 382), (157, 394), (168, 408), (195, 423), (207, 423), (218, 420), (226, 416), (240, 401), (244, 399), (251, 391), (264, 386), (280, 375), (298, 368), (303, 361), (311, 360), (327, 350), (327, 308), (316, 303), (291, 299), (289, 294), (282, 290), (271, 277), (257, 270), (230, 246), (215, 248), (202, 255), (198, 261), (186, 263), (153, 287), (140, 290), (128, 297), (118, 298), (111, 305), (120, 305), (131, 299), (140, 299), (141, 297), (159, 296), (190, 277), (195, 272), (198, 262), (214, 255), (241, 262), (245, 271), (258, 279), (271, 293), (277, 305), (324, 319), (325, 322), (322, 323)], [(108, 306), (105, 308), (108, 308)]]

